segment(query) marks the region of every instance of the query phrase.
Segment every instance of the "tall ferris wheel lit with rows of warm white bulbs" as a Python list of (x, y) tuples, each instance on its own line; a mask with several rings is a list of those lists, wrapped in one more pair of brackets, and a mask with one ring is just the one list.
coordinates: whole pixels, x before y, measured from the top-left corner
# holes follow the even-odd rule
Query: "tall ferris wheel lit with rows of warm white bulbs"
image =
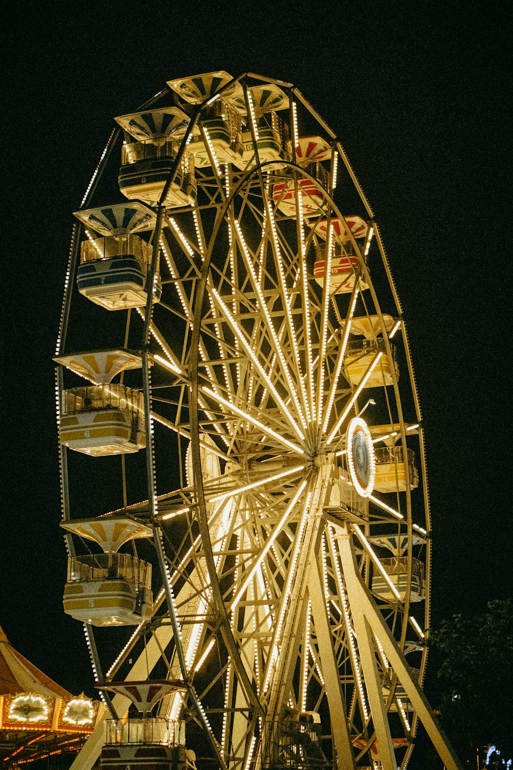
[[(108, 745), (174, 725), (184, 768), (391, 770), (420, 718), (458, 767), (421, 693), (431, 527), (408, 339), (344, 149), (298, 89), (252, 74), (170, 81), (115, 121), (75, 213), (55, 356), (64, 607)], [(152, 681), (158, 697), (134, 696)], [(104, 744), (98, 728), (76, 766)]]

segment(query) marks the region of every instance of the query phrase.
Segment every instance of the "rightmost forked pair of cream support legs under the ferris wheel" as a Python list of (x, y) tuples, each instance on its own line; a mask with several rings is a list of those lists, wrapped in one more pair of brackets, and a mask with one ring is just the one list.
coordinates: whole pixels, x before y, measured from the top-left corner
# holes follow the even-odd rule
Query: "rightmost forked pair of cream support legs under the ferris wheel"
[[(348, 591), (348, 600), (351, 607), (351, 617), (355, 624), (358, 636), (358, 650), (361, 654), (361, 663), (365, 671), (365, 685), (371, 705), (372, 718), (375, 725), (378, 747), (381, 755), (381, 763), (385, 770), (396, 770), (394, 752), (391, 745), (390, 729), (385, 715), (381, 685), (375, 658), (375, 641), (381, 644), (391, 668), (398, 676), (411, 705), (418, 713), (418, 718), (431, 738), (438, 755), (444, 762), (447, 770), (462, 770), (458, 757), (448, 741), (445, 732), (438, 725), (438, 720), (428, 704), (424, 693), (411, 675), (411, 668), (406, 662), (404, 654), (398, 648), (388, 625), (381, 613), (375, 607), (370, 591), (364, 584), (356, 567), (355, 551), (352, 546), (352, 536), (348, 527), (344, 525), (337, 536), (340, 550), (342, 570)], [(388, 750), (384, 747), (388, 745)]]

